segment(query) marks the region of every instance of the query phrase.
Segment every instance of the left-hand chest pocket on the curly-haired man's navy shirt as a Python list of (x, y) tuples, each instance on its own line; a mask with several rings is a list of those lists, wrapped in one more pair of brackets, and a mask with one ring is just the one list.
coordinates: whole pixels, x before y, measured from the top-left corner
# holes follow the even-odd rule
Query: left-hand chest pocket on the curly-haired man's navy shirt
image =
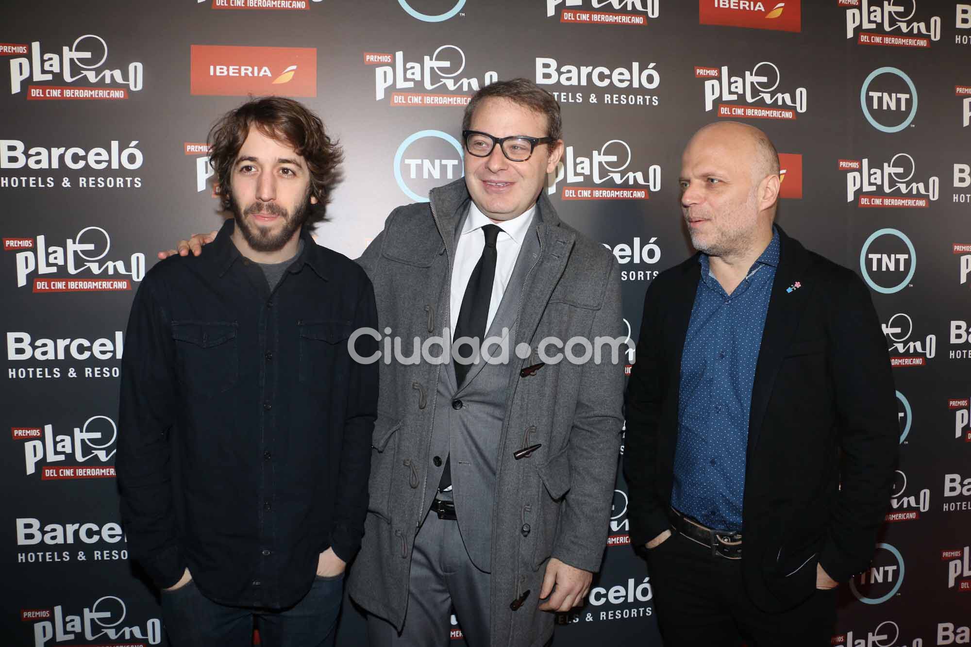
[(235, 322), (173, 322), (179, 381), (191, 392), (225, 392), (239, 380)]

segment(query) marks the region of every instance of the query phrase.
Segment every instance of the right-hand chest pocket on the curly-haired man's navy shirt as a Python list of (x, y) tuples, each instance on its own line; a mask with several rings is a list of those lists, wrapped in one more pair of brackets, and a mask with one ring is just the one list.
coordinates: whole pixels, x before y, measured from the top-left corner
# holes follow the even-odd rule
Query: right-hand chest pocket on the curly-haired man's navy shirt
[(297, 322), (300, 334), (301, 384), (312, 391), (329, 391), (335, 380), (347, 377), (351, 322)]

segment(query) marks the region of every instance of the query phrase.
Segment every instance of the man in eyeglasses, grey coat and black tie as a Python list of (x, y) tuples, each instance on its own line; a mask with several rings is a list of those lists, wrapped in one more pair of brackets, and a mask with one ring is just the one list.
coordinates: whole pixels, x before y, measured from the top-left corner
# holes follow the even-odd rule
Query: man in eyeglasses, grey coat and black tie
[[(462, 129), (465, 177), (391, 212), (358, 262), (381, 328), (406, 348), (496, 337), (509, 360), (458, 344), (437, 363), (381, 361), (349, 578), (375, 646), (450, 644), (452, 606), (473, 647), (545, 644), (552, 612), (583, 603), (606, 545), (622, 359), (551, 359), (574, 338), (622, 336), (617, 260), (543, 191), (563, 152), (549, 92), (486, 85)], [(182, 241), (180, 254), (205, 242)], [(551, 338), (561, 346), (541, 348)]]

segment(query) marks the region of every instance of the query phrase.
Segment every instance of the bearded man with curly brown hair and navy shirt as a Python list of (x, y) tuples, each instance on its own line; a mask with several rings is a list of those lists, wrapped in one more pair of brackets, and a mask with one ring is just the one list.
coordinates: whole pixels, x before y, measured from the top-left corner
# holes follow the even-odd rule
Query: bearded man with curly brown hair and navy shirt
[[(318, 246), (341, 149), (281, 97), (213, 127), (212, 249), (160, 262), (132, 305), (117, 480), (132, 557), (176, 647), (333, 643), (364, 529), (378, 367), (351, 331), (374, 290)], [(365, 337), (355, 349), (377, 350)]]

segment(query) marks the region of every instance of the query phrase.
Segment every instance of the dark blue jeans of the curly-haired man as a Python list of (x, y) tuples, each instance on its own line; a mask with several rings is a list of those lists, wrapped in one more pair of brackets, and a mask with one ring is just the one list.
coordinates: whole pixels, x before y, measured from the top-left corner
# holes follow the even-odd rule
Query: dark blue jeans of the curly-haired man
[(194, 581), (162, 592), (162, 620), (173, 647), (331, 647), (344, 576), (318, 577), (306, 596), (282, 611), (225, 606), (203, 596)]

